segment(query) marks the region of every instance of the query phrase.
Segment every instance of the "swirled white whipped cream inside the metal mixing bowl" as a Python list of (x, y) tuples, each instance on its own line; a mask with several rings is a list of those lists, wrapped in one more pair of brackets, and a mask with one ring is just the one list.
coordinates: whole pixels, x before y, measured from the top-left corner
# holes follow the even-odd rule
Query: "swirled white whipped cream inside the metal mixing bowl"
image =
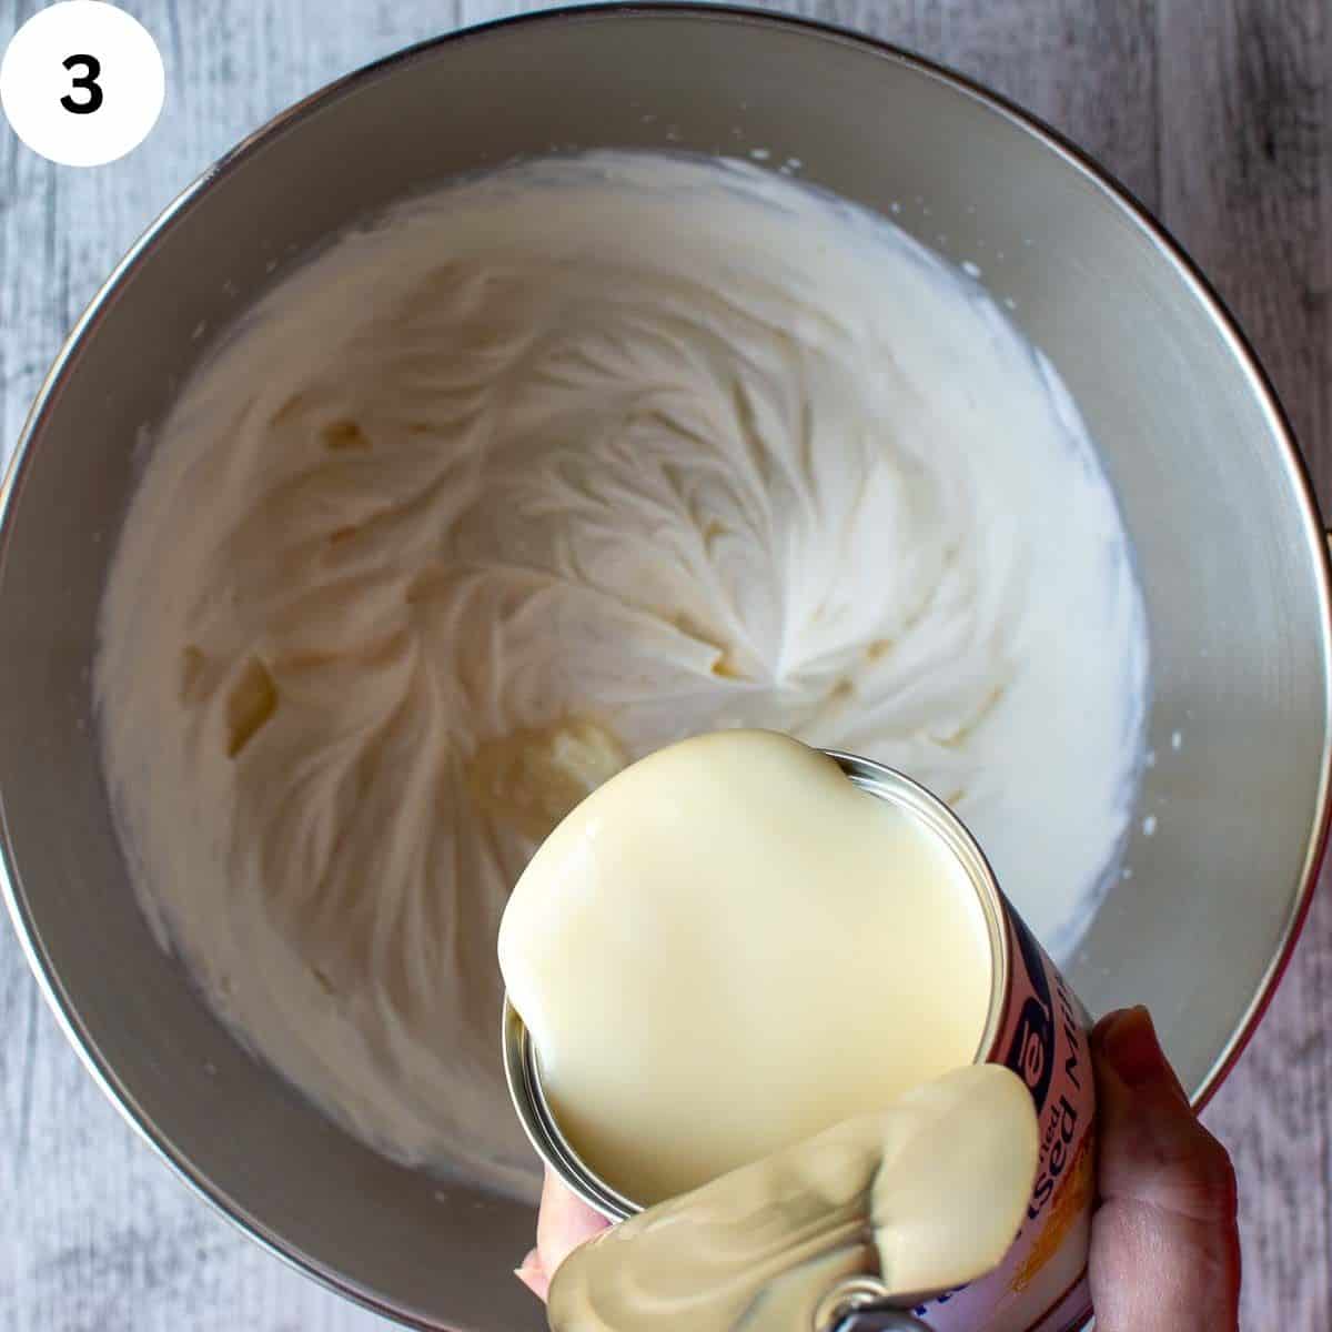
[(280, 281), (155, 430), (101, 617), (147, 910), (369, 1140), (529, 1187), (496, 931), (619, 758), (785, 730), (951, 799), (1056, 951), (1127, 815), (1139, 598), (1046, 362), (887, 222), (590, 156)]

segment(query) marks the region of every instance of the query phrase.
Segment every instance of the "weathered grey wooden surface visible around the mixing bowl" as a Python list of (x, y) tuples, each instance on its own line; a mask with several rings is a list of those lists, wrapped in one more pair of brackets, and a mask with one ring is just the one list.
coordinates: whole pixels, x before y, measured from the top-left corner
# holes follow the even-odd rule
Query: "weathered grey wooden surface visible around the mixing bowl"
[[(121, 0), (166, 59), (163, 121), (97, 170), (0, 125), (0, 452), (85, 301), (234, 140), (482, 0)], [(0, 44), (36, 4), (0, 0)], [(954, 64), (1066, 131), (1158, 210), (1276, 378), (1332, 501), (1328, 0), (805, 0)], [(1241, 1181), (1244, 1328), (1332, 1325), (1332, 900), (1208, 1112)], [(196, 1201), (83, 1072), (0, 927), (0, 1328), (349, 1332), (384, 1324)], [(517, 1259), (519, 1255), (514, 1255)]]

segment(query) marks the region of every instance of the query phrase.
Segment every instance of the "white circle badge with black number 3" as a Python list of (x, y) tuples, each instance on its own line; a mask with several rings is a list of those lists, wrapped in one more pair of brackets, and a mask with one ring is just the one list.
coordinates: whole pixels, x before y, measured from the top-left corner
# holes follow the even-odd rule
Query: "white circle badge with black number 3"
[(166, 96), (148, 29), (104, 0), (35, 13), (0, 63), (0, 105), (13, 132), (64, 166), (100, 166), (137, 148)]

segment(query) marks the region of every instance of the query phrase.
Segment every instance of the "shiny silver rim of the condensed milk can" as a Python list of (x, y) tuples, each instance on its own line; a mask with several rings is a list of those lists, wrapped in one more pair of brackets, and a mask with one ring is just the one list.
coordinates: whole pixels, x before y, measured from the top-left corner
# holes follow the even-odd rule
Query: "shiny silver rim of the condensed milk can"
[[(1012, 991), (1012, 955), (1006, 927), (1006, 906), (990, 862), (967, 826), (932, 791), (886, 763), (821, 750), (859, 790), (908, 810), (934, 832), (956, 858), (976, 894), (990, 943), (990, 1003), (986, 1022), (971, 1056), (972, 1064), (999, 1059), (999, 1036)], [(609, 1221), (623, 1221), (643, 1208), (601, 1177), (577, 1152), (559, 1128), (541, 1082), (541, 1064), (527, 1024), (503, 996), (501, 1050), (505, 1082), (527, 1140), (542, 1162)]]

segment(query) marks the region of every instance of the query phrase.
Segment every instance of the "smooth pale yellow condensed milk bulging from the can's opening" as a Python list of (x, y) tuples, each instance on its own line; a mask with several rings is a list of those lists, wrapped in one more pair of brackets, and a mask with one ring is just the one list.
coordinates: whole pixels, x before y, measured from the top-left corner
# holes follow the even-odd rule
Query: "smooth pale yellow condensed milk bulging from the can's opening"
[(559, 825), (500, 964), (565, 1135), (649, 1205), (970, 1064), (992, 944), (916, 815), (786, 735), (719, 731)]

